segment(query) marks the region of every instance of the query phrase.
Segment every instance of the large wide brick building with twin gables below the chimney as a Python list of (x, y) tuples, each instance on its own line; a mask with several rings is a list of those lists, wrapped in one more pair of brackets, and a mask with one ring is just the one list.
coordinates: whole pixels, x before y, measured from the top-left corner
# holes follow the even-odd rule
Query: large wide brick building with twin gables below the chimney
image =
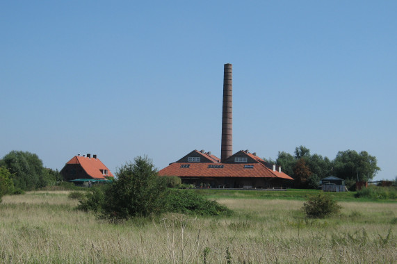
[(193, 150), (159, 175), (179, 176), (182, 183), (211, 188), (282, 188), (293, 180), (280, 166), (269, 165), (248, 150), (238, 151), (222, 163), (211, 152)]

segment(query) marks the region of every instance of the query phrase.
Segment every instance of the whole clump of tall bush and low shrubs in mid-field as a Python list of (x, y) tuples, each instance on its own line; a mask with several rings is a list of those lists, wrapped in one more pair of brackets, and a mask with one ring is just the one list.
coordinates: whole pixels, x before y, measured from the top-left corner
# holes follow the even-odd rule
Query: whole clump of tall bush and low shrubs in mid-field
[(139, 156), (133, 163), (122, 166), (117, 176), (118, 179), (111, 184), (91, 188), (79, 199), (78, 208), (112, 219), (147, 217), (163, 212), (191, 215), (231, 213), (227, 207), (194, 192), (168, 190), (166, 177), (159, 177), (152, 161), (146, 157)]

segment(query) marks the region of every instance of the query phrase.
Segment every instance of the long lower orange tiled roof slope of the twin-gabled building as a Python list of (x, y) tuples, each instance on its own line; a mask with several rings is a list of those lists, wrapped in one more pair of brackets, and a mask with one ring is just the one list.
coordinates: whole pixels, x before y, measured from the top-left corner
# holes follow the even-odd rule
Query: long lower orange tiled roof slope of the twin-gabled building
[[(181, 167), (188, 164), (189, 167)], [(284, 172), (270, 170), (262, 163), (250, 163), (252, 168), (244, 168), (245, 163), (219, 163), (222, 168), (209, 168), (211, 163), (171, 163), (159, 171), (161, 176), (188, 177), (252, 177), (252, 178), (282, 178), (293, 180)]]

